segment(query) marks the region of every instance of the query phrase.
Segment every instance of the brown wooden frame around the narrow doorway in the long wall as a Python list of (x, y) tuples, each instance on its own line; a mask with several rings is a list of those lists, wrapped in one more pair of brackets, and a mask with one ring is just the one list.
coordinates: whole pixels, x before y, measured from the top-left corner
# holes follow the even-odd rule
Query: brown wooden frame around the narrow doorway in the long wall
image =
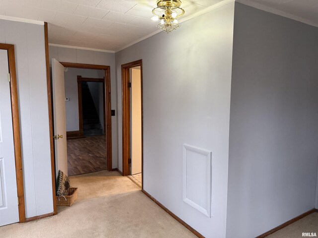
[[(143, 106), (143, 60), (136, 60), (121, 65), (122, 72), (122, 146), (123, 146), (123, 176), (130, 175), (130, 165), (128, 159), (130, 157), (130, 89), (128, 83), (130, 81), (130, 69), (140, 66), (141, 69), (141, 164), (142, 179), (144, 179), (144, 106)], [(144, 181), (144, 180), (143, 180)], [(142, 182), (142, 189), (144, 183)]]

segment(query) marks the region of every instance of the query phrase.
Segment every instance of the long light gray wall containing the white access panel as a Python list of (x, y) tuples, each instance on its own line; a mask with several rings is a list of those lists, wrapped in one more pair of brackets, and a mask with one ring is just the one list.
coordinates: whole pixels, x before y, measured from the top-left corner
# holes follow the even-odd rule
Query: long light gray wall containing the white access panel
[[(144, 189), (207, 238), (226, 230), (233, 21), (234, 2), (116, 53), (119, 169), (121, 65), (142, 59)], [(211, 218), (182, 201), (183, 143), (212, 151)]]

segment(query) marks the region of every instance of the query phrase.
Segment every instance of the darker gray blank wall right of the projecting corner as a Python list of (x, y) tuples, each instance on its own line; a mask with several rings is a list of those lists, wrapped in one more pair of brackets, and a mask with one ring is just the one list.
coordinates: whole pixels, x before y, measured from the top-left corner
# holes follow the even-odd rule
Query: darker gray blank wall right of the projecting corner
[(227, 237), (314, 208), (318, 28), (235, 4)]

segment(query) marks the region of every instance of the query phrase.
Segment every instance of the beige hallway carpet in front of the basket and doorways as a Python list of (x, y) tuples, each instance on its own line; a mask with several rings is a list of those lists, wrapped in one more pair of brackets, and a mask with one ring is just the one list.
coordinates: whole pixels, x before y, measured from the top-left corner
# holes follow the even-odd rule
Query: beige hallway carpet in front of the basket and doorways
[(70, 177), (79, 187), (58, 215), (0, 227), (0, 238), (195, 238), (118, 172)]

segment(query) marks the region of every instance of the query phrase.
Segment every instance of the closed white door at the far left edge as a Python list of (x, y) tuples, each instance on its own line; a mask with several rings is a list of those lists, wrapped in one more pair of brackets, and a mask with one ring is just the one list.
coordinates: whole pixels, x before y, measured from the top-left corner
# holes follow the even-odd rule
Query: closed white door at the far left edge
[(8, 57), (0, 50), (0, 226), (19, 221)]

